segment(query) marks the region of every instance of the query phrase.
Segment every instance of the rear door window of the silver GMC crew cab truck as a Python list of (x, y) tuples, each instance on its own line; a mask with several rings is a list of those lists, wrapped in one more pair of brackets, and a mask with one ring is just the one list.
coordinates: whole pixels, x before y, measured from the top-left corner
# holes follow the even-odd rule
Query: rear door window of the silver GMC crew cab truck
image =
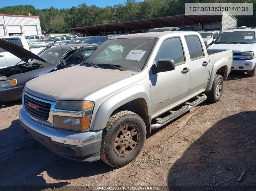
[(185, 36), (190, 59), (198, 59), (204, 56), (202, 44), (198, 36)]

